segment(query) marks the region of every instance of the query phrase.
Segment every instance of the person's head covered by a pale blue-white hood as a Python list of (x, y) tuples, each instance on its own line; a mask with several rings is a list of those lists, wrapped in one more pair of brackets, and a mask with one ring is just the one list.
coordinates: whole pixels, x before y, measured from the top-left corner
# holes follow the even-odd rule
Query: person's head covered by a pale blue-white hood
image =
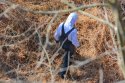
[(76, 12), (70, 13), (68, 18), (66, 19), (65, 24), (73, 27), (77, 19), (78, 19), (78, 14)]

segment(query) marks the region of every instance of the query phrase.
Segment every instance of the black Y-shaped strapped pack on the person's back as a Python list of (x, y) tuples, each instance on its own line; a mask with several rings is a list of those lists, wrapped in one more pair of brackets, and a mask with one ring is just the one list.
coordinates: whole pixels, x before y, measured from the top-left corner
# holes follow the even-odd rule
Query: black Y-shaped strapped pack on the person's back
[(71, 41), (68, 40), (68, 35), (74, 30), (75, 28), (73, 27), (71, 30), (69, 30), (67, 33), (64, 31), (64, 23), (62, 25), (62, 34), (59, 38), (60, 45), (62, 45), (63, 49), (68, 49), (69, 45), (72, 44)]

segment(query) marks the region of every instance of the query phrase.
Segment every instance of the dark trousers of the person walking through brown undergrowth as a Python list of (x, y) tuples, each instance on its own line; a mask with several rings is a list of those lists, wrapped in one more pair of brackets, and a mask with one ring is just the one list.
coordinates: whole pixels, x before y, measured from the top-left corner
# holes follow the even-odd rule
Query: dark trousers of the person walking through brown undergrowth
[(69, 62), (70, 62), (69, 60), (70, 60), (71, 56), (75, 53), (74, 45), (68, 45), (67, 47), (68, 48), (64, 49), (65, 55), (64, 55), (63, 64), (62, 64), (63, 71), (60, 72), (60, 75), (62, 78), (64, 78), (64, 75), (66, 74), (66, 70), (69, 65)]

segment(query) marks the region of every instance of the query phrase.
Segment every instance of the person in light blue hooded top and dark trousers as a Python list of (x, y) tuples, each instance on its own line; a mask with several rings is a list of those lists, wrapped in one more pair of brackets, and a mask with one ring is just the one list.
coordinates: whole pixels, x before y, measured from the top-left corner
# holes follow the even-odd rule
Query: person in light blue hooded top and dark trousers
[(78, 14), (76, 12), (70, 13), (66, 21), (60, 23), (54, 34), (56, 42), (60, 42), (60, 45), (66, 51), (62, 64), (64, 70), (60, 72), (62, 78), (66, 74), (69, 58), (75, 53), (75, 49), (80, 46), (77, 38), (77, 29), (74, 27), (77, 19)]

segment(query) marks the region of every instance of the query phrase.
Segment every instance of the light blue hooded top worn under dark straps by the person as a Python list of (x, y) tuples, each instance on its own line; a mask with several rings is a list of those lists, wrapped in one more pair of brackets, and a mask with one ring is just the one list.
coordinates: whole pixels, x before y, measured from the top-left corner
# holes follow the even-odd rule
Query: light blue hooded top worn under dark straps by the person
[[(71, 30), (76, 21), (78, 19), (78, 15), (77, 13), (71, 13), (65, 24), (64, 24), (64, 31), (65, 33), (67, 33), (69, 30)], [(58, 41), (59, 40), (59, 37), (61, 36), (61, 30), (62, 30), (62, 25), (63, 25), (63, 22), (58, 26), (55, 34), (54, 34), (54, 38)], [(78, 41), (78, 38), (77, 38), (77, 30), (74, 29), (69, 35), (68, 35), (68, 40), (72, 42), (72, 44), (75, 46), (75, 47), (79, 47), (79, 41)]]

